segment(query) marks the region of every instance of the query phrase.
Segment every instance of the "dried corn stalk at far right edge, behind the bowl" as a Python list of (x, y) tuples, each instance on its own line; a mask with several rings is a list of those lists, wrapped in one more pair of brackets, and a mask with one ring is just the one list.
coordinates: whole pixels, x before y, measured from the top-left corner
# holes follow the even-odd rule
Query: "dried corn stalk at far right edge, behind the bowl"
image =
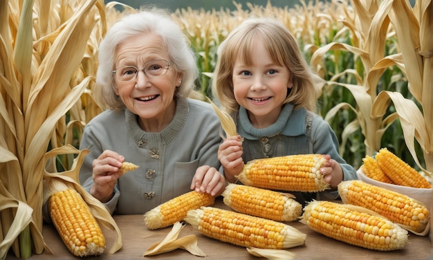
[[(414, 8), (407, 1), (385, 0), (391, 6), (389, 19), (394, 26), (401, 53), (391, 59), (405, 73), (414, 100), (398, 92), (382, 91), (374, 101), (371, 115), (383, 118), (387, 106), (394, 103), (400, 119), (405, 143), (416, 164), (432, 178), (433, 171), (433, 3), (416, 1)], [(423, 150), (425, 167), (418, 160), (415, 140)]]

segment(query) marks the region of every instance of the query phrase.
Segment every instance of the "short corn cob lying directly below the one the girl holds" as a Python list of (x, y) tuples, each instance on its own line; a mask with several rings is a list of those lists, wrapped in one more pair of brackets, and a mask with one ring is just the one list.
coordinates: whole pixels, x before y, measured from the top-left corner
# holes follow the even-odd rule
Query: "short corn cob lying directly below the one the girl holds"
[(269, 189), (230, 183), (222, 196), (232, 210), (274, 221), (294, 221), (302, 214), (302, 205), (293, 195)]

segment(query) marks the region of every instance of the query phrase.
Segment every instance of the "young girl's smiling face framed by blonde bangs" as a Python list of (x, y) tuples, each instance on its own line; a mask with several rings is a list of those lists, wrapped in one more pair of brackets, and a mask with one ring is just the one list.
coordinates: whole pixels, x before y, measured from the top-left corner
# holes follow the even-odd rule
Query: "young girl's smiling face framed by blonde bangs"
[(252, 64), (240, 58), (234, 62), (234, 98), (248, 111), (252, 125), (265, 128), (277, 121), (291, 83), (286, 66), (273, 61), (261, 40), (252, 47)]

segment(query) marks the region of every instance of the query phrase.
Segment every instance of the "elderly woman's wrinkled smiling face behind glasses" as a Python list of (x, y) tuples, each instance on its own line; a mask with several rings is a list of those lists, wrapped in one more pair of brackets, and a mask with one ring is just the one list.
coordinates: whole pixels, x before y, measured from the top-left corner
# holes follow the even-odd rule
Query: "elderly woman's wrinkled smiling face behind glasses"
[[(174, 113), (174, 92), (176, 86), (180, 85), (181, 75), (174, 71), (173, 66), (169, 66), (164, 75), (151, 76), (155, 71), (165, 70), (165, 67), (159, 66), (160, 59), (171, 62), (160, 36), (151, 33), (130, 37), (116, 48), (116, 95), (119, 95), (127, 109), (144, 121), (160, 122), (167, 120), (167, 113), (171, 113), (169, 111)], [(138, 68), (136, 77), (131, 77), (135, 73), (133, 68), (121, 69), (125, 66)], [(132, 80), (122, 82), (122, 74)]]

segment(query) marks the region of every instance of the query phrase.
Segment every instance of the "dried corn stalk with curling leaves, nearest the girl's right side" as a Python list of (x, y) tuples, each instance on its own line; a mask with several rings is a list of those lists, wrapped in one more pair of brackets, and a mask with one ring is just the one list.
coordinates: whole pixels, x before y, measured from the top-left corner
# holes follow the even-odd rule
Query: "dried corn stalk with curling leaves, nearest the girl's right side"
[[(383, 50), (389, 24), (387, 8), (389, 9), (390, 7), (382, 6), (379, 9), (377, 1), (365, 1), (366, 3), (361, 3), (359, 0), (354, 0), (352, 2), (354, 9), (353, 17), (345, 17), (342, 20), (344, 24), (342, 31), (349, 30), (351, 32), (352, 45), (340, 43), (335, 39), (330, 44), (326, 44), (315, 50), (311, 57), (311, 65), (315, 67), (316, 71), (322, 71), (323, 66), (320, 62), (324, 55), (332, 50), (353, 53), (355, 59), (360, 59), (362, 62), (362, 69), (347, 68), (344, 71), (335, 73), (331, 80), (327, 82), (329, 86), (344, 86), (351, 91), (357, 106), (353, 107), (347, 102), (340, 102), (326, 114), (325, 120), (332, 118), (340, 109), (353, 111), (356, 114), (356, 119), (344, 129), (341, 149), (344, 149), (344, 140), (346, 140), (347, 136), (360, 127), (362, 134), (365, 136), (366, 154), (371, 155), (380, 148), (381, 138), (381, 133), (378, 132), (381, 120), (370, 118), (371, 105), (377, 95), (376, 86), (380, 79), (380, 71), (371, 72), (371, 68), (384, 56)], [(358, 17), (358, 19), (355, 17)], [(342, 32), (338, 33), (338, 35), (341, 34)], [(338, 60), (335, 60), (335, 62), (338, 62)], [(366, 75), (358, 75), (357, 71), (365, 71)], [(340, 77), (346, 75), (355, 75), (356, 84), (339, 82)]]

